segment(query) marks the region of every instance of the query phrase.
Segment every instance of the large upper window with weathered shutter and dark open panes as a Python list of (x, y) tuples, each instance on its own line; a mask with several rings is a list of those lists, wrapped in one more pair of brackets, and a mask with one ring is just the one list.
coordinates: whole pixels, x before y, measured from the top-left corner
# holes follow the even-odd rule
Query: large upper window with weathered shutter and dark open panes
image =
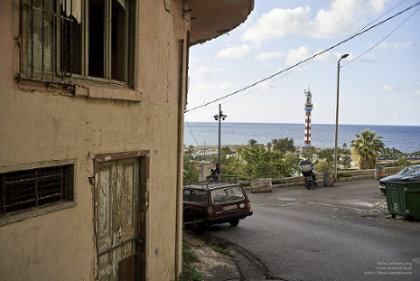
[(23, 79), (129, 85), (135, 0), (22, 0)]

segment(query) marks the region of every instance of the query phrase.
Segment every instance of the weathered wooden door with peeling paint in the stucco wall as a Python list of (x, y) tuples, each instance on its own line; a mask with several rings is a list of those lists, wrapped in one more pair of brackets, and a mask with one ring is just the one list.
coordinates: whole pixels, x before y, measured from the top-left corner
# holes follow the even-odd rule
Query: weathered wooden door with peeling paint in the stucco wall
[(98, 280), (138, 280), (139, 159), (100, 162), (95, 178)]

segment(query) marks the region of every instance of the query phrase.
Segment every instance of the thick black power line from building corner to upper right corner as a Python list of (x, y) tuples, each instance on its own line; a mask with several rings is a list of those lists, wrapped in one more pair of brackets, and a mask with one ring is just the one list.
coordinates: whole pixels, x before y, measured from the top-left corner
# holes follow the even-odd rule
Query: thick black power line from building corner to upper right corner
[(299, 61), (299, 62), (295, 63), (295, 64), (294, 64), (294, 65), (292, 65), (292, 66), (289, 66), (289, 67), (287, 67), (287, 68), (285, 68), (285, 69), (283, 69), (283, 70), (280, 70), (280, 71), (278, 71), (278, 72), (276, 72), (276, 73), (274, 73), (274, 74), (272, 74), (272, 75), (270, 75), (270, 76), (268, 76), (268, 77), (265, 77), (265, 78), (263, 78), (263, 79), (261, 79), (261, 80), (258, 80), (258, 81), (256, 81), (256, 82), (254, 82), (254, 83), (252, 83), (252, 84), (250, 84), (250, 85), (248, 85), (248, 86), (245, 86), (245, 87), (243, 87), (243, 88), (241, 88), (241, 89), (239, 89), (239, 90), (236, 90), (236, 91), (234, 91), (234, 92), (232, 92), (232, 93), (230, 93), (230, 94), (227, 94), (227, 95), (225, 95), (225, 96), (218, 97), (218, 98), (216, 98), (216, 99), (214, 99), (214, 100), (212, 100), (212, 101), (206, 102), (206, 103), (204, 103), (204, 104), (202, 104), (202, 105), (199, 105), (199, 106), (193, 107), (193, 108), (191, 108), (191, 109), (185, 110), (185, 111), (184, 111), (184, 113), (191, 112), (191, 111), (194, 111), (194, 110), (197, 110), (197, 109), (200, 109), (200, 108), (206, 107), (206, 106), (208, 106), (208, 105), (210, 105), (210, 104), (213, 104), (213, 103), (215, 103), (215, 102), (219, 102), (219, 101), (224, 100), (224, 99), (226, 99), (226, 98), (228, 98), (228, 97), (230, 97), (230, 96), (236, 95), (236, 94), (237, 94), (237, 93), (239, 93), (239, 92), (243, 92), (243, 91), (245, 91), (245, 90), (248, 90), (248, 89), (250, 89), (250, 88), (253, 88), (253, 87), (255, 87), (256, 85), (261, 84), (261, 83), (263, 83), (263, 82), (265, 82), (265, 81), (267, 81), (267, 80), (270, 80), (270, 79), (272, 79), (272, 78), (274, 78), (274, 77), (276, 77), (276, 76), (278, 76), (278, 75), (280, 75), (280, 74), (282, 74), (282, 73), (284, 73), (284, 72), (290, 71), (291, 69), (293, 69), (293, 68), (295, 68), (295, 67), (297, 67), (297, 66), (299, 66), (299, 65), (301, 65), (301, 64), (303, 64), (303, 63), (306, 63), (306, 62), (308, 62), (308, 61), (310, 61), (310, 60), (313, 60), (314, 58), (316, 58), (316, 57), (318, 57), (318, 56), (320, 56), (320, 55), (322, 55), (322, 54), (324, 54), (324, 53), (326, 53), (326, 52), (329, 52), (329, 51), (331, 51), (332, 49), (335, 49), (335, 48), (337, 48), (338, 46), (340, 46), (340, 45), (342, 45), (342, 44), (344, 44), (344, 43), (347, 43), (348, 41), (350, 41), (350, 40), (352, 40), (352, 39), (354, 39), (354, 38), (356, 38), (356, 37), (358, 37), (358, 36), (360, 36), (360, 35), (362, 35), (362, 34), (364, 34), (364, 33), (368, 32), (368, 31), (372, 30), (373, 28), (376, 28), (376, 27), (378, 27), (378, 26), (380, 26), (380, 25), (382, 25), (382, 24), (384, 24), (384, 23), (386, 23), (386, 22), (390, 21), (390, 20), (391, 20), (391, 19), (393, 19), (393, 18), (395, 18), (395, 17), (397, 17), (397, 16), (400, 16), (401, 14), (403, 14), (403, 13), (405, 13), (405, 12), (407, 12), (407, 11), (411, 10), (411, 9), (412, 9), (412, 8), (414, 8), (415, 6), (418, 6), (419, 4), (420, 4), (420, 1), (418, 1), (417, 3), (415, 3), (415, 4), (411, 5), (411, 6), (409, 6), (408, 8), (405, 8), (404, 10), (401, 10), (400, 12), (395, 13), (394, 15), (392, 15), (392, 16), (390, 16), (390, 17), (388, 17), (388, 18), (386, 18), (386, 19), (384, 19), (384, 20), (382, 20), (382, 21), (380, 21), (380, 22), (378, 22), (378, 23), (376, 23), (376, 24), (374, 24), (374, 25), (372, 25), (372, 26), (370, 26), (370, 27), (368, 27), (368, 28), (364, 27), (364, 28), (363, 28), (362, 30), (360, 30), (359, 32), (354, 33), (353, 35), (351, 35), (351, 36), (347, 37), (346, 39), (344, 39), (344, 40), (342, 40), (342, 41), (340, 41), (340, 42), (338, 42), (338, 43), (336, 43), (336, 44), (334, 44), (334, 45), (330, 46), (329, 48), (327, 48), (327, 49), (325, 49), (325, 50), (323, 50), (323, 51), (320, 51), (320, 52), (318, 52), (318, 53), (315, 53), (314, 55), (312, 55), (312, 56), (310, 56), (310, 57), (308, 57), (308, 58), (306, 58), (306, 59), (304, 59), (304, 60), (301, 60), (301, 61)]

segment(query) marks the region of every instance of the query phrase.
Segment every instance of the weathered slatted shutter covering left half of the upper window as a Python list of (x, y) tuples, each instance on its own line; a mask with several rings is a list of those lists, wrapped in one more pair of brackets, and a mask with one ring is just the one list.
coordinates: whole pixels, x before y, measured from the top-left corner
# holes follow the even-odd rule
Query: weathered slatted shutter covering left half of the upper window
[(73, 0), (20, 1), (21, 78), (70, 82), (73, 61), (81, 60), (73, 56), (73, 29), (78, 23), (72, 11)]

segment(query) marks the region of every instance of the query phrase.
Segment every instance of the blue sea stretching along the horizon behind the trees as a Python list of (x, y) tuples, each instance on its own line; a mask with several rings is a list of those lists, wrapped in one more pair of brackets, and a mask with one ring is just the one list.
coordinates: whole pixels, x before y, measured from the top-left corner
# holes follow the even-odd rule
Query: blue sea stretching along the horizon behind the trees
[[(303, 146), (304, 124), (280, 123), (232, 123), (222, 122), (221, 144), (244, 145), (250, 139), (259, 144), (267, 144), (273, 139), (291, 138), (296, 146)], [(420, 151), (420, 126), (384, 125), (339, 125), (338, 146), (350, 146), (351, 140), (362, 130), (369, 129), (382, 137), (385, 147), (395, 148), (404, 153)], [(335, 125), (312, 124), (311, 145), (318, 148), (334, 147)], [(185, 122), (185, 146), (213, 146), (218, 144), (217, 122)]]

